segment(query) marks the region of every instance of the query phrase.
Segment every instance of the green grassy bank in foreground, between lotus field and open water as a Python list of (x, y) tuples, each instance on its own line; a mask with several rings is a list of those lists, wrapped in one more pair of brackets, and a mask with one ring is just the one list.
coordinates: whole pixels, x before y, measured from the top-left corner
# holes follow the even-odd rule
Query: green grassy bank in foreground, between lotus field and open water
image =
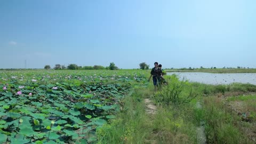
[[(202, 123), (207, 143), (255, 142), (255, 85), (188, 83), (175, 76), (166, 79), (169, 85), (155, 94), (149, 84), (123, 99), (121, 113), (97, 131), (99, 143), (198, 143), (196, 130)], [(146, 98), (154, 101), (156, 114), (146, 112)], [(245, 102), (245, 108), (237, 113), (230, 107), (234, 101)]]

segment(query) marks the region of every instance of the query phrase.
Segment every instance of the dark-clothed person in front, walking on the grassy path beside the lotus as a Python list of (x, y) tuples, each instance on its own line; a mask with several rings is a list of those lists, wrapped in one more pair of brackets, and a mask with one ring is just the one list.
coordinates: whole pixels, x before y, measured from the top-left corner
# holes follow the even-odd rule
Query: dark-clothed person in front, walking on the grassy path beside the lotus
[(155, 67), (152, 68), (151, 72), (150, 72), (150, 77), (148, 79), (148, 81), (150, 81), (150, 78), (153, 76), (153, 84), (154, 84), (154, 91), (157, 91), (157, 82), (160, 86), (160, 81), (161, 81), (161, 77), (162, 77), (162, 70), (158, 67), (158, 62), (154, 63)]

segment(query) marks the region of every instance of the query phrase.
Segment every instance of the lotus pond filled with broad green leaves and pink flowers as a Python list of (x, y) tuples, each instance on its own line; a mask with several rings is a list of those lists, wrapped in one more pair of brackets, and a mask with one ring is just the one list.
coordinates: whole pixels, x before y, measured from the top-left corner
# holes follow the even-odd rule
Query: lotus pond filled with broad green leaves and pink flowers
[(142, 70), (0, 71), (0, 143), (94, 143)]

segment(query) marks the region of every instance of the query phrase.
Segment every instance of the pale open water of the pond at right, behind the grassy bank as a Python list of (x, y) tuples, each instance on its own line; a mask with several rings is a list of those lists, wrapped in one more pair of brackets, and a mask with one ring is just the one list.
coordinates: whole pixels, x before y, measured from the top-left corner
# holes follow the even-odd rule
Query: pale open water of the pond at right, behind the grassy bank
[(231, 83), (250, 83), (256, 85), (255, 73), (232, 73), (232, 74), (215, 74), (215, 73), (186, 73), (172, 72), (167, 75), (176, 74), (180, 79), (185, 78), (190, 82), (199, 82), (204, 84), (231, 84)]

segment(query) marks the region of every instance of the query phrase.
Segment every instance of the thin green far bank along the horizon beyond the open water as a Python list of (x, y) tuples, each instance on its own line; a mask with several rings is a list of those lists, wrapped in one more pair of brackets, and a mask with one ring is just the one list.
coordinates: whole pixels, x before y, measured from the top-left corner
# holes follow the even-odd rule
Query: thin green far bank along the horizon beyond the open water
[(196, 68), (166, 69), (166, 72), (201, 72), (201, 73), (256, 73), (255, 68)]

